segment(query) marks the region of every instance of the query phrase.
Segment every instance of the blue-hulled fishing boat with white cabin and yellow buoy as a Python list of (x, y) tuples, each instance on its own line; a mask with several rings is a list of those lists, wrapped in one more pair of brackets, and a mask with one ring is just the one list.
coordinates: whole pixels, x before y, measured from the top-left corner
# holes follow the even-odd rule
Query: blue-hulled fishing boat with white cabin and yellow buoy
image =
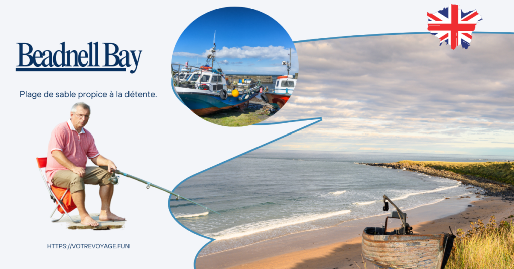
[[(207, 56), (207, 64), (200, 67), (189, 66), (191, 72), (184, 80), (175, 79), (173, 85), (178, 97), (196, 115), (205, 116), (217, 111), (239, 107), (244, 110), (250, 100), (257, 97), (263, 88), (260, 81), (232, 84), (231, 78), (221, 68), (215, 69), (216, 63), (216, 32), (212, 53)], [(212, 64), (212, 66), (210, 65)], [(177, 65), (176, 70), (180, 70)], [(183, 69), (183, 68), (182, 68)], [(172, 64), (172, 70), (173, 64)]]

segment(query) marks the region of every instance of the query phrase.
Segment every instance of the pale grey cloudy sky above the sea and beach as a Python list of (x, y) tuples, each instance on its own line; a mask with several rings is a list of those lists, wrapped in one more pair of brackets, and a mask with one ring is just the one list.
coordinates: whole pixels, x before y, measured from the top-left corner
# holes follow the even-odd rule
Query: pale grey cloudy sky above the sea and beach
[(431, 34), (295, 45), (298, 86), (267, 122), (323, 121), (267, 149), (514, 155), (513, 34), (467, 50)]

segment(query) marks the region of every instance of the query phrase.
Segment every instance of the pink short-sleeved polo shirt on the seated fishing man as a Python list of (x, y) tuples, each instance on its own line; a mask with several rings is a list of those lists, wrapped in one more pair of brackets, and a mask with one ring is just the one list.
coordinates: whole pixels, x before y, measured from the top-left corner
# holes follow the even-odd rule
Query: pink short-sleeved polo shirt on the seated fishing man
[(53, 174), (59, 170), (68, 170), (52, 157), (52, 151), (60, 150), (66, 158), (78, 167), (85, 168), (87, 158), (94, 158), (100, 153), (98, 152), (93, 135), (86, 129), (82, 128), (80, 134), (75, 130), (71, 120), (57, 125), (50, 135), (48, 143), (48, 153), (46, 159), (46, 178), (48, 183), (52, 184)]

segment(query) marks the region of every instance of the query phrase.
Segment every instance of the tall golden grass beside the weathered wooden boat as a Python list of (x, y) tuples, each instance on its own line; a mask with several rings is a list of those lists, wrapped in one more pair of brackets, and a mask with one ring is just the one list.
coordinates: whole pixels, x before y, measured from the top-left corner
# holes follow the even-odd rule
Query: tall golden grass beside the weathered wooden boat
[(489, 224), (479, 219), (471, 222), (471, 229), (457, 230), (453, 249), (446, 264), (447, 269), (514, 267), (514, 223), (502, 221), (496, 224), (491, 216)]

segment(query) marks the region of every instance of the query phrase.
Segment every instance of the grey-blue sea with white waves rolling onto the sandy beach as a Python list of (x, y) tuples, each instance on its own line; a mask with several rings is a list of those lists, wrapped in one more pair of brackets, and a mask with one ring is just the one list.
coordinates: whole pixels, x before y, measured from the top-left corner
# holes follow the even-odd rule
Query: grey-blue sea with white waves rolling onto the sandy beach
[(469, 195), (458, 181), (366, 166), (399, 160), (495, 162), (513, 156), (255, 150), (183, 182), (170, 201), (177, 221), (216, 241), (200, 256), (383, 214), (382, 195), (411, 209)]

